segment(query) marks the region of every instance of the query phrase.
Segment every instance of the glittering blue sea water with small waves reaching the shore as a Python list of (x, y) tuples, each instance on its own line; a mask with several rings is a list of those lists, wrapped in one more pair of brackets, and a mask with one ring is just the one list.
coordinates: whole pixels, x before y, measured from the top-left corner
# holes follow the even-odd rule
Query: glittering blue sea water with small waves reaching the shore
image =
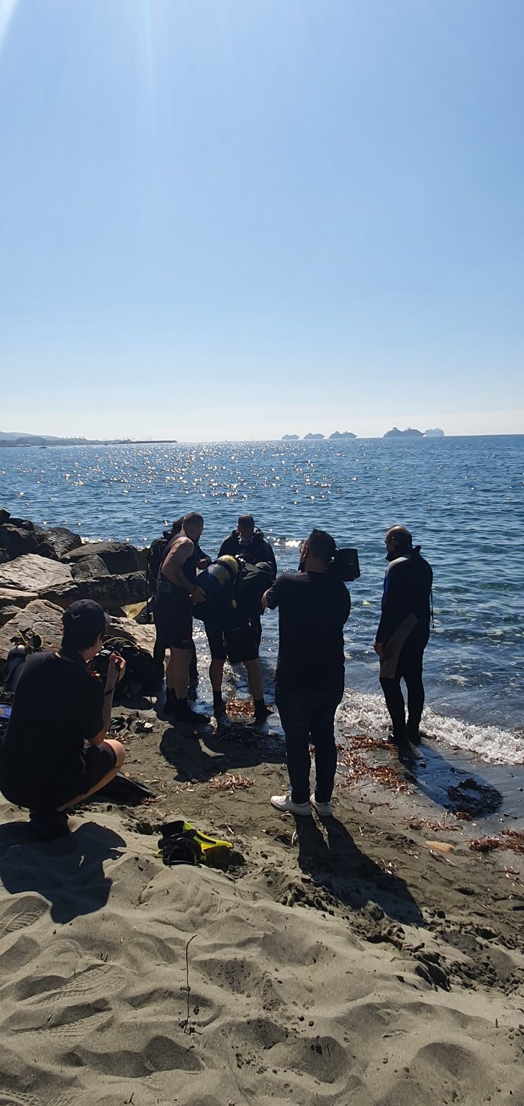
[[(296, 566), (313, 526), (356, 545), (361, 577), (349, 585), (344, 703), (356, 727), (386, 721), (371, 641), (384, 533), (407, 525), (434, 571), (425, 724), (444, 741), (511, 763), (524, 760), (523, 447), (524, 437), (511, 436), (2, 449), (0, 504), (85, 540), (138, 545), (198, 510), (211, 555), (249, 511), (281, 570)], [(268, 664), (276, 628), (268, 615)]]

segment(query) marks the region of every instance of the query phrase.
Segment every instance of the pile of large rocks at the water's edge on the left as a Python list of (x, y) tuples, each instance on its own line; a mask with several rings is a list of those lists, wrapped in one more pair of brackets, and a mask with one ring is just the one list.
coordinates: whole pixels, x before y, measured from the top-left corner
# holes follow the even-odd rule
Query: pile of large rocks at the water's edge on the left
[(44, 530), (0, 510), (0, 669), (18, 630), (56, 648), (62, 612), (95, 599), (113, 616), (112, 632), (153, 648), (154, 628), (125, 617), (146, 598), (145, 551), (127, 542), (85, 542), (62, 526)]

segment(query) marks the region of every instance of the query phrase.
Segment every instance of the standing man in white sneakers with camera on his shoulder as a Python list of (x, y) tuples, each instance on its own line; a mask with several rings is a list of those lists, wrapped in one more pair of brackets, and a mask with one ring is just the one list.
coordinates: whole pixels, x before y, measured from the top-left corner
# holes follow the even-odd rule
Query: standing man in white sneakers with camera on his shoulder
[[(336, 545), (324, 530), (313, 530), (301, 549), (298, 573), (284, 573), (263, 596), (279, 607), (279, 659), (275, 702), (285, 734), (287, 795), (272, 806), (291, 814), (321, 817), (332, 811), (336, 771), (335, 711), (344, 693), (344, 625), (349, 592), (334, 571)], [(316, 783), (310, 796), (310, 743), (315, 747)]]

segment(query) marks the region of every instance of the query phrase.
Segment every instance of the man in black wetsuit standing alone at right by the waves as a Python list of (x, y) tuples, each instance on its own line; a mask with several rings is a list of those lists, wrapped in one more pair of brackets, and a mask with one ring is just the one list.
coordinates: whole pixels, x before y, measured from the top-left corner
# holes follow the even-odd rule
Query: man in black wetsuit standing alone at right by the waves
[[(391, 526), (385, 543), (389, 566), (374, 649), (380, 657), (380, 686), (391, 716), (392, 739), (402, 747), (407, 741), (413, 744), (420, 741), (425, 702), (422, 658), (429, 639), (433, 573), (420, 556), (420, 545), (413, 549), (411, 534), (405, 526)], [(408, 691), (407, 723), (401, 679)]]

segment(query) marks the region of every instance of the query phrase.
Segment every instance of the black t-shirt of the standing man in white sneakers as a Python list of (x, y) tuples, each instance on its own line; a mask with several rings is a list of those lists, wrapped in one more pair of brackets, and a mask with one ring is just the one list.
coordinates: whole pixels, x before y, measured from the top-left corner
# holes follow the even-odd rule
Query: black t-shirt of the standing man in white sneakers
[(279, 607), (276, 687), (295, 695), (344, 688), (344, 624), (349, 618), (346, 585), (327, 572), (284, 573), (266, 594)]

